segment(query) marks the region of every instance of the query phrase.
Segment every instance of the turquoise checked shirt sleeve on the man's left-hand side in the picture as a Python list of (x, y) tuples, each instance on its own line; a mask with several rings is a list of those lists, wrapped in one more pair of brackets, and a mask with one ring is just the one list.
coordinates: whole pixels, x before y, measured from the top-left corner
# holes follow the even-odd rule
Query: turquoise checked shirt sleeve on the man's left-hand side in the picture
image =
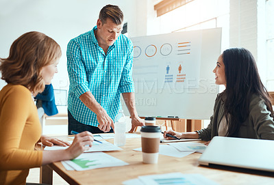
[(67, 51), (67, 69), (69, 73), (69, 81), (73, 89), (73, 93), (77, 97), (84, 94), (88, 89), (88, 81), (86, 77), (86, 69), (82, 60), (82, 52), (80, 46), (75, 40), (71, 40), (68, 44)]

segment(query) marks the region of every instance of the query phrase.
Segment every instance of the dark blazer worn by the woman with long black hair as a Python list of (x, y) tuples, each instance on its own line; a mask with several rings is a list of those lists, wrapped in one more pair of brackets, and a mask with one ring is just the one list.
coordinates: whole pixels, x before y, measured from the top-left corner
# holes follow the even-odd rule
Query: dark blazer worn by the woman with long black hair
[[(213, 112), (208, 128), (196, 131), (199, 138), (204, 141), (210, 141), (214, 136), (218, 136), (219, 124), (224, 116), (224, 104), (219, 96), (215, 100)], [(274, 122), (270, 115), (264, 100), (254, 94), (249, 104), (249, 117), (240, 126), (236, 137), (274, 140)]]

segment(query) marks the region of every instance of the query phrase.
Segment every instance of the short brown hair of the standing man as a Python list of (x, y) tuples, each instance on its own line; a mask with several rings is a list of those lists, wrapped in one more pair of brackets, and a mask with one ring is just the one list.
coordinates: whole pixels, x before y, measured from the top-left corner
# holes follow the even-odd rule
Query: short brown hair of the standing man
[(99, 19), (104, 24), (107, 18), (110, 18), (116, 25), (121, 25), (123, 23), (124, 15), (117, 5), (105, 5), (100, 11)]

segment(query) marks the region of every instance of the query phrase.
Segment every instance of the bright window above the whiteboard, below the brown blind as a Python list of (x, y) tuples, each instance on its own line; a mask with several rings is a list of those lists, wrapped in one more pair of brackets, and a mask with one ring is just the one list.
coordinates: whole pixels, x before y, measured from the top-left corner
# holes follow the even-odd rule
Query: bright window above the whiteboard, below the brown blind
[(160, 33), (222, 27), (221, 50), (229, 47), (229, 0), (195, 0), (159, 16)]

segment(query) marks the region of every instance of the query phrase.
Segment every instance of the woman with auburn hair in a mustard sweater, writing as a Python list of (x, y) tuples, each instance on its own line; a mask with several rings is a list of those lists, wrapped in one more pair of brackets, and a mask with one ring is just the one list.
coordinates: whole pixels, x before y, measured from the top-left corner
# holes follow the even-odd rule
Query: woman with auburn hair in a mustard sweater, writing
[(70, 160), (92, 146), (90, 132), (75, 135), (66, 150), (37, 151), (37, 142), (51, 146), (69, 143), (41, 137), (41, 126), (34, 96), (42, 92), (57, 71), (60, 46), (47, 35), (28, 32), (10, 47), (10, 55), (0, 59), (0, 184), (25, 184), (29, 169), (59, 160)]

